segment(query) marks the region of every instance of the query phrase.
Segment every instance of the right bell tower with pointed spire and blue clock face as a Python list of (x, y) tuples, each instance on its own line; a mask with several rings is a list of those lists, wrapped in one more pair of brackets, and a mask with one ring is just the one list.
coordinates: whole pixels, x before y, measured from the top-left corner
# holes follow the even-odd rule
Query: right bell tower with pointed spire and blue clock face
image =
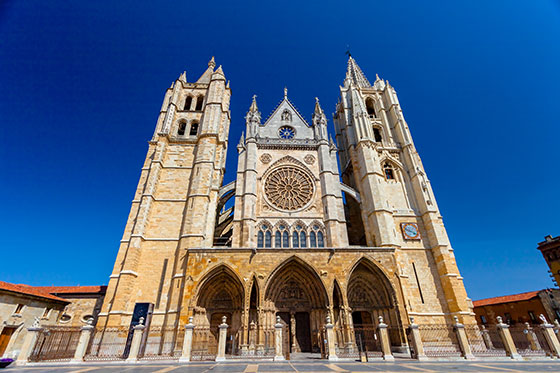
[(469, 314), (453, 249), (395, 89), (378, 76), (370, 84), (350, 57), (334, 124), (343, 182), (361, 197), (359, 216), (350, 214), (349, 225), (362, 222), (367, 246), (396, 248), (413, 311), (428, 311), (421, 282), (435, 271), (440, 301), (451, 314)]

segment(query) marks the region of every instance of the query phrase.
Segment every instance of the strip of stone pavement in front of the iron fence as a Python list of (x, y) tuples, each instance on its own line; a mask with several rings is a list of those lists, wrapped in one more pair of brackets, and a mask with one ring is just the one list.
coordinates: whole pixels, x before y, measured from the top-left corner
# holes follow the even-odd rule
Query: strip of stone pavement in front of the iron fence
[(505, 372), (560, 372), (560, 360), (548, 361), (457, 361), (457, 362), (370, 362), (353, 361), (328, 362), (321, 361), (252, 361), (252, 362), (192, 362), (178, 364), (176, 362), (151, 362), (139, 364), (37, 364), (25, 367), (11, 366), (6, 373), (27, 372), (64, 372), (64, 373), (108, 373), (108, 372), (140, 372), (140, 373), (257, 373), (257, 372), (424, 372), (424, 373), (505, 373)]

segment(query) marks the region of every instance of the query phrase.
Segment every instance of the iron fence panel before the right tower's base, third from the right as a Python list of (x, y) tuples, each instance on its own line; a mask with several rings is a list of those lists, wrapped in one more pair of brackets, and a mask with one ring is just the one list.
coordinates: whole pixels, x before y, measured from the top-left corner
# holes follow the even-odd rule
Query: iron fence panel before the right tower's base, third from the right
[(419, 325), (424, 353), (428, 357), (460, 357), (461, 347), (453, 325)]

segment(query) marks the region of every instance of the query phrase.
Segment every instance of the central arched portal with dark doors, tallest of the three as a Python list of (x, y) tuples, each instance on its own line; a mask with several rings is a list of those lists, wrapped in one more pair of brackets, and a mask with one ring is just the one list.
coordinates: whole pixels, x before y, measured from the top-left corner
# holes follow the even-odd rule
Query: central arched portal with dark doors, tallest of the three
[(280, 265), (268, 281), (265, 305), (273, 316), (280, 316), (288, 325), (291, 352), (320, 351), (328, 297), (311, 266), (296, 257)]

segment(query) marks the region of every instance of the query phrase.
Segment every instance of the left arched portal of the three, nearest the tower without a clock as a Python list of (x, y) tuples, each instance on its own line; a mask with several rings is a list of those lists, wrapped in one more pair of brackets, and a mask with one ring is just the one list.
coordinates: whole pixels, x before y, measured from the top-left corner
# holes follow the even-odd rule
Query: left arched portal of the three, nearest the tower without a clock
[(228, 338), (226, 351), (230, 353), (239, 348), (239, 331), (243, 310), (243, 285), (235, 273), (221, 265), (208, 273), (201, 281), (194, 309), (195, 325), (209, 328), (218, 340), (218, 326), (222, 317), (227, 317)]

